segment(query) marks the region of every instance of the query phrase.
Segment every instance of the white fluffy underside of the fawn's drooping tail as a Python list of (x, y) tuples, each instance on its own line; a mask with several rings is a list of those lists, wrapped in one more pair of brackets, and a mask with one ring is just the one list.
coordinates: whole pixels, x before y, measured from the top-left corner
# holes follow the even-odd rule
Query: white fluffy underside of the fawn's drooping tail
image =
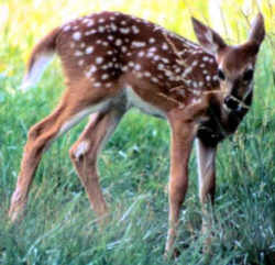
[(54, 52), (47, 52), (36, 55), (36, 59), (33, 63), (31, 69), (25, 74), (19, 90), (25, 92), (36, 82), (38, 82), (47, 65), (52, 62)]

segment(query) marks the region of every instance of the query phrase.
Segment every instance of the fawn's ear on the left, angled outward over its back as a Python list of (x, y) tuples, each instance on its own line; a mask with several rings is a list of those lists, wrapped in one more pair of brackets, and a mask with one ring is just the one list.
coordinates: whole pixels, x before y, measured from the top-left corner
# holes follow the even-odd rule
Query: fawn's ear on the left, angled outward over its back
[(204, 49), (212, 55), (224, 48), (227, 44), (222, 37), (209, 26), (191, 18), (196, 36)]

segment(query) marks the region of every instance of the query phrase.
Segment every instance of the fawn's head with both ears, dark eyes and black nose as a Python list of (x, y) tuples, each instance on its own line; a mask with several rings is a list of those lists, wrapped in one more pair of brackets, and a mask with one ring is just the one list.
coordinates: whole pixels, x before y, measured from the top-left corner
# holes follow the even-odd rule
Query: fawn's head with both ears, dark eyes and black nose
[(212, 29), (193, 19), (197, 38), (207, 53), (215, 55), (223, 103), (229, 110), (239, 110), (252, 98), (253, 74), (257, 52), (265, 36), (261, 13), (253, 20), (249, 38), (244, 44), (229, 46)]

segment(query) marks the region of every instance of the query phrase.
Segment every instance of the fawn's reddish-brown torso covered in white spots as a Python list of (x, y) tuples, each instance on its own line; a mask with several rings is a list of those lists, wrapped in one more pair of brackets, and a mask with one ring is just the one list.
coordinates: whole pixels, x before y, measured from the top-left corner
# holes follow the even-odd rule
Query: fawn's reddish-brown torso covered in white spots
[(113, 98), (123, 90), (128, 106), (164, 115), (172, 106), (200, 101), (202, 91), (219, 85), (212, 55), (142, 19), (94, 13), (52, 34), (56, 37), (47, 37), (55, 41), (51, 45), (62, 59), (66, 82), (75, 90), (82, 87), (87, 104), (89, 92), (97, 92), (100, 101), (107, 91)]

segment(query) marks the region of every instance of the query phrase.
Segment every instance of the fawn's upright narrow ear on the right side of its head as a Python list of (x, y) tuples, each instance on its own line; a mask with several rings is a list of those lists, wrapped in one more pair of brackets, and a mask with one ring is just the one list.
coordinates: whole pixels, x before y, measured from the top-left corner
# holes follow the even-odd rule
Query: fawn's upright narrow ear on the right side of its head
[(254, 42), (260, 46), (264, 40), (264, 16), (262, 13), (258, 13), (257, 16), (252, 21), (249, 41)]

